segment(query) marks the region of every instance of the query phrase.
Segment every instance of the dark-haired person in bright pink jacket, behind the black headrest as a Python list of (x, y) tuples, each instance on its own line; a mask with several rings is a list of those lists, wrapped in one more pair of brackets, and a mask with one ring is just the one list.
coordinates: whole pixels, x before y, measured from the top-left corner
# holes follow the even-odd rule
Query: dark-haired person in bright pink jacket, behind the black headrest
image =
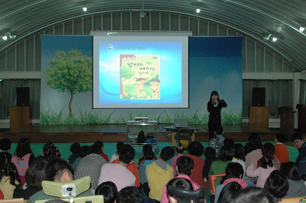
[[(177, 177), (176, 178), (185, 178), (189, 180), (192, 184), (193, 190), (197, 190), (200, 188), (200, 185), (190, 179), (190, 174), (192, 172), (194, 163), (193, 160), (186, 156), (181, 156), (177, 159), (176, 162), (176, 171), (177, 171)], [(164, 186), (164, 190), (162, 191), (162, 198), (160, 200), (161, 203), (168, 203), (168, 193), (167, 193), (167, 185)]]

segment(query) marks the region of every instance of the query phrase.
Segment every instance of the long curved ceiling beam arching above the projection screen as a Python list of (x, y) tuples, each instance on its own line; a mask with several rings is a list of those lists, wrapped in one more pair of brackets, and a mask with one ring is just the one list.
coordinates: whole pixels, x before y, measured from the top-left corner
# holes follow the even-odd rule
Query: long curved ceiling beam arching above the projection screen
[[(69, 20), (74, 20), (76, 18), (80, 18), (80, 17), (85, 17), (85, 16), (90, 16), (90, 15), (96, 15), (96, 14), (103, 14), (103, 13), (113, 13), (113, 12), (126, 12), (126, 11), (137, 11), (137, 12), (141, 12), (141, 9), (117, 9), (117, 10), (107, 10), (107, 11), (99, 11), (99, 12), (93, 12), (93, 13), (87, 13), (87, 14), (84, 14), (84, 15), (79, 15), (79, 16), (73, 16), (73, 17), (70, 17), (70, 18), (66, 18), (64, 20), (60, 20), (60, 21), (57, 21), (57, 22), (54, 22), (54, 23), (51, 23), (51, 24), (48, 24), (46, 26), (43, 26), (43, 27), (40, 27), (39, 29), (36, 29), (34, 31), (31, 31), (30, 33), (28, 34), (25, 34), (24, 36), (20, 37), (20, 38), (17, 38), (16, 40), (8, 43), (6, 46), (2, 47), (0, 49), (0, 52), (2, 52), (4, 49), (8, 48), (9, 46), (15, 44), (16, 42), (24, 39), (24, 38), (27, 38), (28, 36), (32, 35), (33, 33), (35, 32), (39, 32), (39, 31), (42, 31), (44, 29), (47, 29), (48, 27), (52, 27), (54, 25), (57, 25), (57, 24), (60, 24), (60, 23), (63, 23), (63, 22), (66, 22), (66, 21), (69, 21)], [(211, 22), (214, 22), (214, 23), (217, 23), (217, 24), (221, 24), (225, 27), (228, 27), (228, 28), (231, 28), (235, 31), (238, 31), (244, 35), (247, 35), (248, 37), (250, 38), (254, 38), (256, 39), (257, 41), (263, 43), (264, 45), (266, 45), (267, 47), (269, 47), (270, 49), (272, 49), (273, 51), (275, 51), (276, 53), (278, 53), (279, 55), (281, 55), (282, 57), (284, 57), (286, 60), (288, 60), (289, 62), (293, 62), (292, 59), (289, 58), (289, 56), (286, 56), (284, 53), (282, 53), (281, 51), (279, 51), (278, 49), (276, 49), (275, 47), (273, 47), (272, 45), (268, 44), (267, 42), (265, 42), (262, 38), (258, 38), (256, 36), (254, 36), (252, 33), (249, 33), (249, 32), (246, 32), (244, 30), (241, 30), (239, 28), (237, 28), (236, 26), (232, 26), (230, 24), (226, 24), (226, 23), (223, 23), (221, 21), (218, 21), (218, 20), (214, 20), (214, 19), (211, 19), (211, 18), (207, 18), (207, 17), (203, 17), (203, 16), (198, 16), (198, 15), (195, 15), (195, 14), (190, 14), (190, 13), (184, 13), (184, 12), (178, 12), (178, 11), (170, 11), (170, 10), (161, 10), (161, 9), (145, 9), (144, 11), (146, 12), (163, 12), (163, 13), (175, 13), (175, 14), (180, 14), (180, 15), (185, 15), (185, 16), (192, 16), (192, 17), (195, 17), (195, 18), (200, 18), (200, 19), (204, 19), (204, 20), (207, 20), (207, 21), (211, 21)]]

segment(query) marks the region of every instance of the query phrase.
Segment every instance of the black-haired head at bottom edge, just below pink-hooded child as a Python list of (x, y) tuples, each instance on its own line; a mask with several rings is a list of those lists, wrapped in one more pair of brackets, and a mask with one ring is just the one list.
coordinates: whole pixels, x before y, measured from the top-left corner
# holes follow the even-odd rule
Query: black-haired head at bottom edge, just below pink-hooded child
[(233, 198), (237, 196), (237, 193), (242, 190), (242, 187), (237, 182), (230, 182), (220, 192), (220, 196), (217, 199), (218, 201), (215, 202), (222, 202), (222, 203), (230, 203), (232, 202)]

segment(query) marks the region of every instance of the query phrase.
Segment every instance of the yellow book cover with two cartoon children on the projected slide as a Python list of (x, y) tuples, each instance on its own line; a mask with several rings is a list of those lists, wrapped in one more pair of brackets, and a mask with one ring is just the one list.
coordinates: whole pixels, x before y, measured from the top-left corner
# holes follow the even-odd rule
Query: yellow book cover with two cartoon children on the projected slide
[(120, 99), (160, 99), (160, 55), (120, 54)]

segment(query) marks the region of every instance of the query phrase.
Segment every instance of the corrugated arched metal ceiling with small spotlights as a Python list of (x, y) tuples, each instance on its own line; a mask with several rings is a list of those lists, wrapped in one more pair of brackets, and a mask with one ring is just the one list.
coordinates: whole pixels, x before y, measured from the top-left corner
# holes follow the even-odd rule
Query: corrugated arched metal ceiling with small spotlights
[[(157, 11), (208, 20), (260, 42), (296, 71), (306, 70), (306, 0), (1, 0), (0, 33), (17, 31), (15, 39), (0, 39), (0, 53), (20, 40), (53, 25), (99, 13)], [(83, 3), (88, 10), (82, 10)], [(196, 13), (199, 7), (201, 12)], [(146, 16), (145, 16), (146, 17)], [(264, 41), (272, 31), (278, 40)]]

